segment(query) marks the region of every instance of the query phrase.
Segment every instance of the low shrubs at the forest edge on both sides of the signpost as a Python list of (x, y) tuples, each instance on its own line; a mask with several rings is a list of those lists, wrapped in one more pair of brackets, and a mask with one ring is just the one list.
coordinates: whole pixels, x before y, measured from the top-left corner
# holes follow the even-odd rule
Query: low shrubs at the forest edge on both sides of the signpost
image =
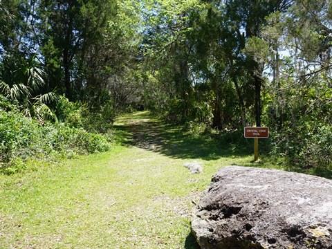
[[(201, 122), (185, 122), (181, 127), (193, 138), (210, 138), (225, 149), (253, 152), (253, 139), (244, 138), (242, 127), (218, 130)], [(269, 138), (259, 139), (259, 157), (288, 171), (332, 178), (331, 134), (331, 125), (310, 122), (298, 125), (294, 130), (276, 131), (272, 128)]]

